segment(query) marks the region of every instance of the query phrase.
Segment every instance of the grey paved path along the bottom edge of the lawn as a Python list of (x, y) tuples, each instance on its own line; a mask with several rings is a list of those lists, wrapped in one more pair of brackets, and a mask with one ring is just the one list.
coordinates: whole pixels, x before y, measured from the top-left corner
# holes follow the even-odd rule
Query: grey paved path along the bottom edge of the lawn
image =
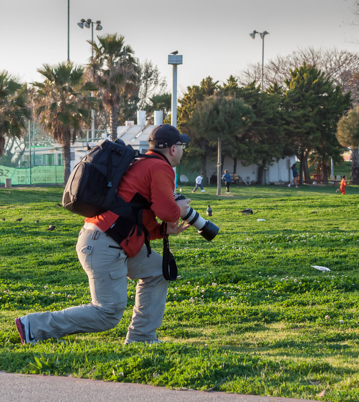
[[(171, 390), (151, 385), (0, 372), (0, 402), (304, 402), (304, 399)], [(310, 401), (313, 402), (313, 401)], [(315, 402), (315, 401), (314, 401)]]

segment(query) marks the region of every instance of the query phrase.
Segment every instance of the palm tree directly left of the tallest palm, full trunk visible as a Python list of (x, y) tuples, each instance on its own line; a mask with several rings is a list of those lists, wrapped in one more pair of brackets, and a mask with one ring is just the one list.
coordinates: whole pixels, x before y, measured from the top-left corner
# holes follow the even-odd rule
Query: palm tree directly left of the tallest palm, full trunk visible
[(91, 121), (88, 90), (95, 86), (84, 84), (84, 68), (72, 63), (56, 66), (43, 65), (37, 70), (45, 77), (43, 82), (34, 82), (37, 91), (34, 97), (36, 114), (40, 123), (54, 140), (62, 145), (64, 162), (64, 184), (70, 176), (70, 143), (82, 133), (81, 127)]

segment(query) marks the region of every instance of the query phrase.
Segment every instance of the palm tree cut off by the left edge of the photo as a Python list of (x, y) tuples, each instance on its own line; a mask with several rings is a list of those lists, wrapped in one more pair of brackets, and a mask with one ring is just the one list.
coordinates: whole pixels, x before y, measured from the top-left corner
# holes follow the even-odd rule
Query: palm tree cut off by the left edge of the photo
[(20, 138), (25, 119), (30, 118), (27, 88), (7, 71), (0, 72), (0, 156), (5, 149), (5, 137)]

